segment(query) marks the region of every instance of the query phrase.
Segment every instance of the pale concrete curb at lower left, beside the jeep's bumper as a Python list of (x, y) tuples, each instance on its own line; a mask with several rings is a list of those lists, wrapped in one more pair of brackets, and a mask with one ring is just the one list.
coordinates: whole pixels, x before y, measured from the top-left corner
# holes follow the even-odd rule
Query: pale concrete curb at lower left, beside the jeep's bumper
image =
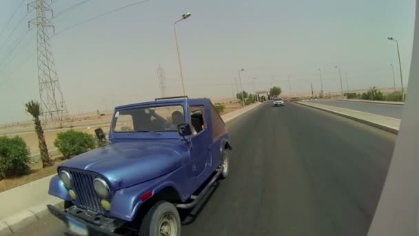
[[(64, 201), (61, 199), (58, 199), (57, 202), (52, 203), (52, 205), (59, 209), (64, 209)], [(42, 204), (3, 219), (0, 221), (0, 236), (12, 235), (14, 232), (17, 232), (17, 230), (25, 228), (25, 226), (32, 224), (32, 222), (45, 217), (48, 213), (48, 208), (45, 204)]]

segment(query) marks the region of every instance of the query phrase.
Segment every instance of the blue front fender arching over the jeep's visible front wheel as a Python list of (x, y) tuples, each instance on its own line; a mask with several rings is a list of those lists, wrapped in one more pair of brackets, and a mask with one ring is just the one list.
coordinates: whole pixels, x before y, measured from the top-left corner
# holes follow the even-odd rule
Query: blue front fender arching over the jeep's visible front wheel
[[(187, 184), (185, 175), (186, 172), (184, 168), (186, 168), (186, 166), (178, 168), (178, 170), (156, 179), (145, 181), (144, 183), (137, 184), (129, 188), (117, 190), (112, 197), (110, 215), (112, 215), (112, 217), (123, 219), (127, 222), (132, 222), (137, 211), (143, 204), (141, 196), (145, 195), (145, 193), (149, 191), (151, 191), (152, 196), (154, 196), (166, 187), (174, 188), (179, 197), (181, 197), (181, 200), (186, 201), (192, 194), (189, 194), (190, 191), (187, 188), (189, 184)], [(183, 184), (181, 185), (176, 183)]]

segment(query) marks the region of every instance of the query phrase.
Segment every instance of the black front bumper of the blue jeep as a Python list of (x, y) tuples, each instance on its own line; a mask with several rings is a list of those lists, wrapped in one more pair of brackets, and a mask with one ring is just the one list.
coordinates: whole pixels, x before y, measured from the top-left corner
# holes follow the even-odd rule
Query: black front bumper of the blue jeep
[(114, 230), (120, 228), (125, 223), (120, 219), (103, 217), (102, 215), (92, 213), (76, 206), (72, 206), (65, 210), (60, 210), (51, 205), (47, 205), (47, 207), (52, 215), (60, 219), (67, 226), (68, 217), (86, 226), (88, 235), (119, 236), (119, 234), (114, 233)]

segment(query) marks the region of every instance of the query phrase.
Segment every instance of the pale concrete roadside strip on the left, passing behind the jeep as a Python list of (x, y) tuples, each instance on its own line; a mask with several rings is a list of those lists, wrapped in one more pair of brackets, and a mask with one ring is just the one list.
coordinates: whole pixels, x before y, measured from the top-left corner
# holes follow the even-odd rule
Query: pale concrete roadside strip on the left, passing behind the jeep
[[(221, 117), (227, 122), (232, 122), (250, 110), (254, 110), (262, 103), (255, 103), (245, 108), (228, 112)], [(50, 179), (54, 175), (44, 177), (24, 184), (17, 188), (0, 193), (0, 202), (7, 204), (0, 211), (0, 236), (12, 235), (21, 228), (25, 228), (43, 215), (48, 214), (47, 204), (63, 208), (63, 201), (57, 197), (48, 195)]]

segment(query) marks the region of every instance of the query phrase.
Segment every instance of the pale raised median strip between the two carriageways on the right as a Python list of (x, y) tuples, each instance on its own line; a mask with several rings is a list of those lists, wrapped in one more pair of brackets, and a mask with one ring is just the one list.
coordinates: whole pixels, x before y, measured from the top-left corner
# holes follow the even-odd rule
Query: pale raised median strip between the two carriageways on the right
[(374, 126), (387, 132), (392, 132), (396, 135), (398, 134), (398, 130), (400, 127), (400, 119), (385, 117), (382, 115), (375, 115), (367, 112), (360, 112), (358, 110), (349, 110), (346, 108), (338, 108), (336, 106), (314, 104), (304, 101), (298, 101), (297, 104), (308, 106), (310, 108), (316, 108), (318, 110), (323, 110), (335, 115), (339, 115), (341, 117), (346, 117), (348, 119), (353, 119), (360, 123), (367, 124), (369, 126)]

